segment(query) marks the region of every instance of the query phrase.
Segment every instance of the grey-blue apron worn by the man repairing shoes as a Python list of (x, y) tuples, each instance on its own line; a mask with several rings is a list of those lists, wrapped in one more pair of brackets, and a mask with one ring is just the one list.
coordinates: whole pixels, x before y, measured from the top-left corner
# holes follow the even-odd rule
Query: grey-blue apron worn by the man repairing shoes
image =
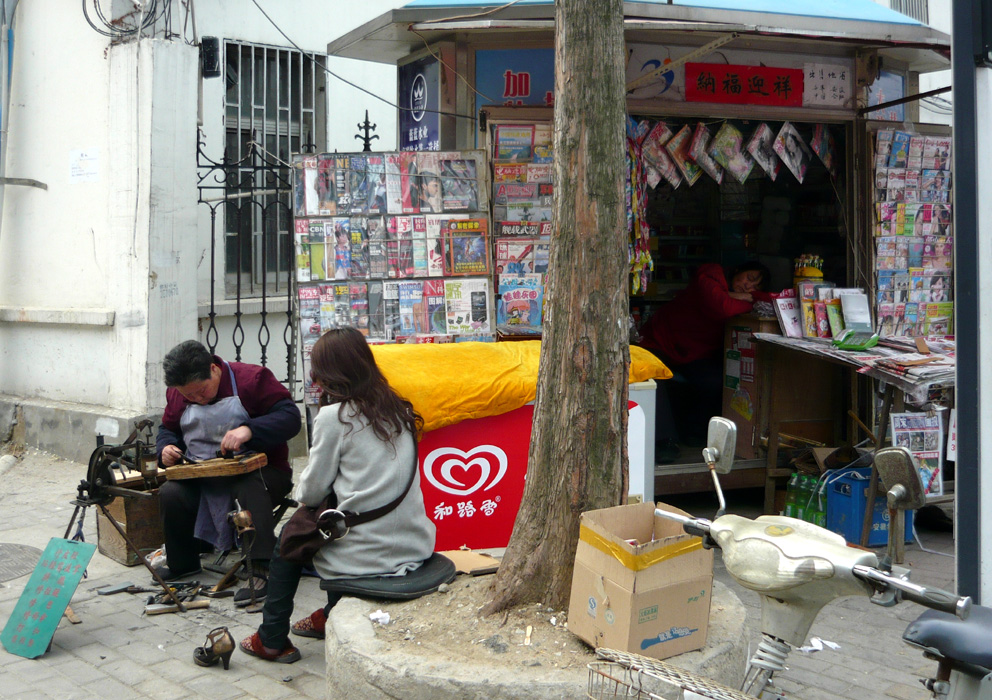
[[(231, 377), (233, 396), (216, 403), (190, 404), (179, 419), (179, 427), (186, 443), (186, 456), (201, 461), (213, 459), (220, 449), (220, 441), (229, 430), (246, 422), (250, 416), (238, 397), (238, 383), (234, 371), (226, 361), (224, 367)], [(221, 550), (231, 549), (234, 534), (227, 522), (227, 514), (234, 510), (230, 489), (213, 480), (203, 480), (200, 486), (200, 507), (196, 513), (193, 535), (210, 542)]]

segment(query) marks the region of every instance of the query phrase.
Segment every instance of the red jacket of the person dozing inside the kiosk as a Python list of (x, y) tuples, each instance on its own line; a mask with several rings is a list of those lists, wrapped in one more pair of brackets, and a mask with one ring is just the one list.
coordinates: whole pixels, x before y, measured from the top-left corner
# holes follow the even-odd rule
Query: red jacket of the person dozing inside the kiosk
[(644, 324), (641, 345), (673, 365), (719, 355), (727, 319), (747, 313), (752, 306), (750, 301), (730, 296), (720, 265), (701, 265), (689, 286)]

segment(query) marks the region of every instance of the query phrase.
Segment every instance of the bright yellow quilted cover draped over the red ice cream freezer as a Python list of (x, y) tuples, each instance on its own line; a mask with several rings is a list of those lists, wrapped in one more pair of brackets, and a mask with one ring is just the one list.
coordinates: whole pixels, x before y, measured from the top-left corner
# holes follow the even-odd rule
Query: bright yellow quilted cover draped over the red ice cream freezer
[[(425, 431), (512, 411), (537, 393), (540, 340), (373, 345), (372, 352), (392, 387), (423, 416)], [(671, 376), (661, 360), (631, 346), (631, 382)]]

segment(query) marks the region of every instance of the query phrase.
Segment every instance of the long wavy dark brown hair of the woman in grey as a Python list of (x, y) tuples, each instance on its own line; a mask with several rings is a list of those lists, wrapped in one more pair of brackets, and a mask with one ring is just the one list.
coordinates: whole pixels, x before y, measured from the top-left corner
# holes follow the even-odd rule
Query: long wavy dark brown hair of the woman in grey
[[(352, 404), (383, 442), (404, 430), (416, 436), (423, 427), (413, 405), (389, 386), (365, 336), (356, 329), (335, 328), (322, 335), (310, 353), (310, 367), (322, 389), (320, 405)], [(343, 414), (340, 418), (350, 425)]]

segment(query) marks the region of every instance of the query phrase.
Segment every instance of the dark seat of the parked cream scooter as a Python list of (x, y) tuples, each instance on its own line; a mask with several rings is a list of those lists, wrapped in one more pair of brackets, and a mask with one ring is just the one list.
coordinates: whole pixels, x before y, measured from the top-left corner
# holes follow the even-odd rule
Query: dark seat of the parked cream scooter
[(910, 623), (902, 638), (947, 659), (992, 671), (992, 608), (973, 605), (967, 620), (927, 610)]

